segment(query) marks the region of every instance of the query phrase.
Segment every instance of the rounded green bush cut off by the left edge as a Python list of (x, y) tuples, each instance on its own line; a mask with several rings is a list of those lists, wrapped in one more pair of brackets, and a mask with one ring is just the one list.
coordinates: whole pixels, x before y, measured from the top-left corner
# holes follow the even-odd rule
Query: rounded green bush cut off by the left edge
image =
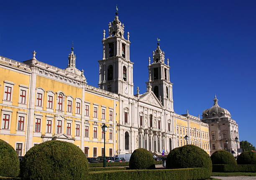
[(17, 176), (19, 166), (20, 161), (13, 147), (0, 139), (0, 176)]

